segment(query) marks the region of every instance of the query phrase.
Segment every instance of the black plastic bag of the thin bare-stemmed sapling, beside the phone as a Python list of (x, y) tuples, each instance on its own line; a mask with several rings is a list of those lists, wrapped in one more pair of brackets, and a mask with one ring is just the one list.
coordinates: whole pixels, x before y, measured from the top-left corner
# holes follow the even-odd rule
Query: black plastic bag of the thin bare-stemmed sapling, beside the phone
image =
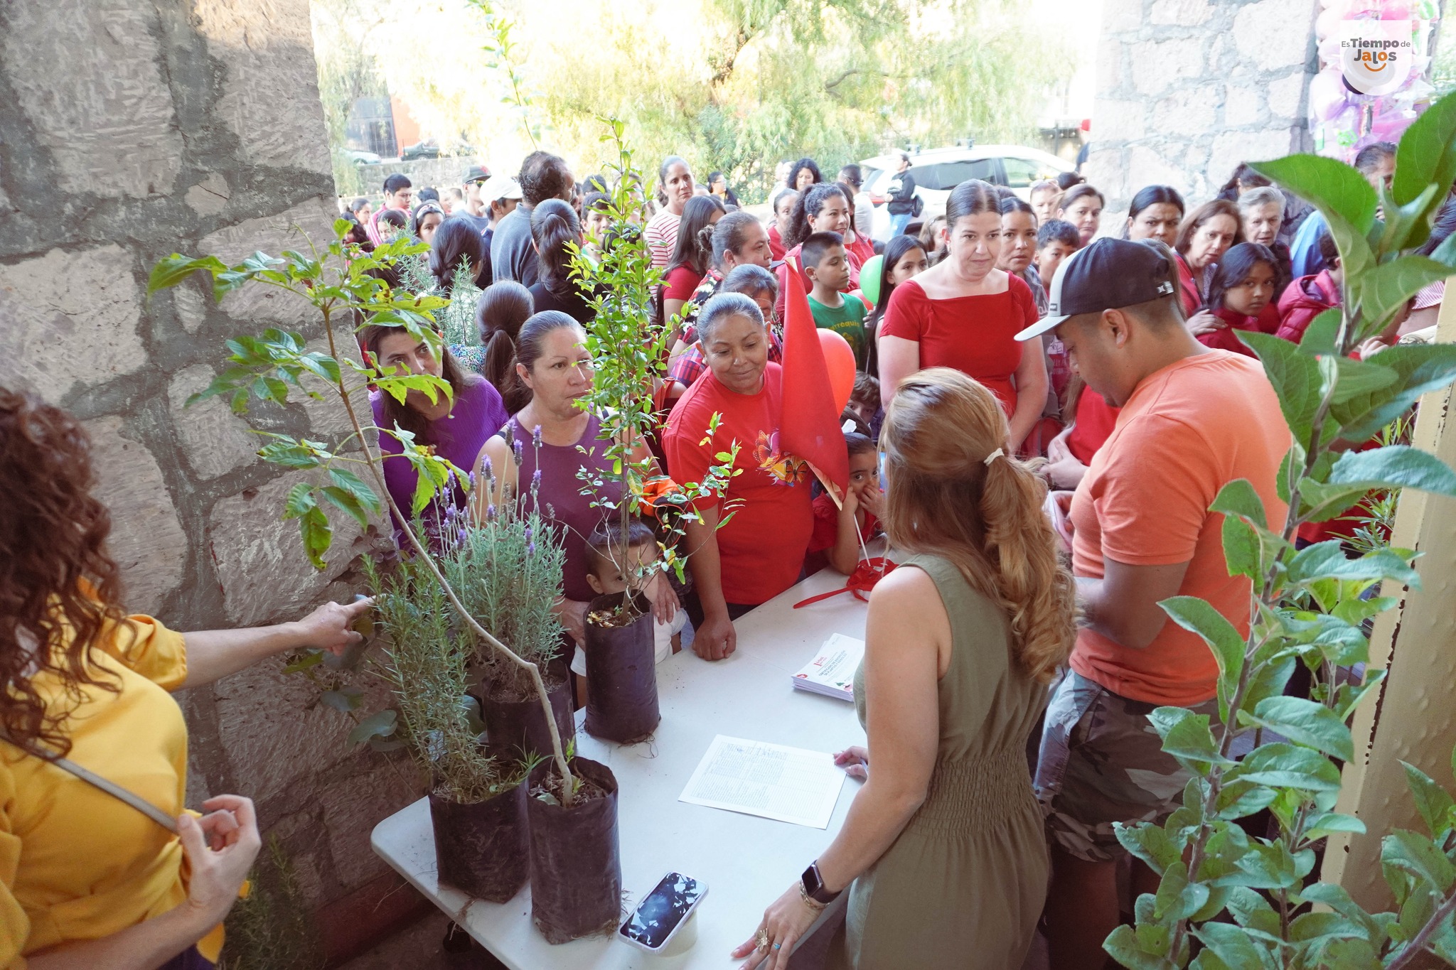
[(622, 918), (617, 779), (610, 768), (585, 758), (572, 758), (571, 772), (579, 785), (569, 809), (561, 806), (553, 762), (531, 775), (526, 800), (531, 922), (552, 944), (614, 932)]

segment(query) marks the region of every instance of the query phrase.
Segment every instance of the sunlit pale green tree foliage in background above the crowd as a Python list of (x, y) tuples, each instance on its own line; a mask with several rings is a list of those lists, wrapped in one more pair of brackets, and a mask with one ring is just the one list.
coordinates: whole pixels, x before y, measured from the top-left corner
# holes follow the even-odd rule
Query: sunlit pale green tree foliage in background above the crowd
[[(386, 22), (367, 47), (390, 90), (494, 166), (537, 141), (587, 164), (612, 116), (639, 157), (721, 169), (747, 201), (804, 154), (828, 173), (890, 145), (1029, 140), (1072, 73), (1010, 0), (314, 0), (348, 4)], [(338, 20), (314, 15), (320, 48)]]

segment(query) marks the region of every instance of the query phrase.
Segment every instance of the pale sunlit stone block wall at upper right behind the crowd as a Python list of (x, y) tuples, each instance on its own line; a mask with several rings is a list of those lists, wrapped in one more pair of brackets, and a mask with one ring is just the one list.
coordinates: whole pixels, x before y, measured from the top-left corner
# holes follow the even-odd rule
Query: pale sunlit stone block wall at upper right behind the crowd
[(1313, 0), (1104, 0), (1092, 147), (1083, 173), (1120, 233), (1146, 185), (1190, 208), (1241, 161), (1307, 150)]

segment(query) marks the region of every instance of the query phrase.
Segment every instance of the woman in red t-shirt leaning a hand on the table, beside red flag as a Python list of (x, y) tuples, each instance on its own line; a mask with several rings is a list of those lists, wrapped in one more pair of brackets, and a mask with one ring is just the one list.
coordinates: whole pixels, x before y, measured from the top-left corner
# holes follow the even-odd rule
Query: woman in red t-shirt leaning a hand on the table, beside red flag
[[(684, 524), (697, 601), (686, 604), (697, 628), (693, 650), (722, 660), (737, 646), (732, 621), (799, 579), (814, 531), (814, 476), (779, 445), (783, 374), (769, 362), (759, 304), (718, 294), (697, 314), (697, 340), (709, 371), (673, 406), (662, 449), (674, 480), (702, 481), (716, 455), (738, 444), (727, 490), (695, 503), (702, 518)], [(727, 512), (732, 521), (718, 528)]]

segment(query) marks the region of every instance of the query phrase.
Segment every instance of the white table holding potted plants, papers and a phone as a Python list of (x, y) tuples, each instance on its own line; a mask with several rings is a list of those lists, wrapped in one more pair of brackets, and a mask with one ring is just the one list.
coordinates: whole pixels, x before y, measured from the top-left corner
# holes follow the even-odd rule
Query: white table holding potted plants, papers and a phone
[(824, 752), (865, 743), (853, 705), (791, 684), (830, 634), (863, 638), (866, 606), (849, 592), (792, 608), (843, 583), (834, 570), (823, 570), (740, 618), (738, 649), (727, 660), (711, 663), (683, 650), (660, 663), (662, 723), (648, 742), (600, 742), (581, 729), (578, 711), (577, 753), (607, 765), (617, 778), (623, 913), (668, 871), (708, 883), (693, 918), (697, 942), (686, 953), (658, 957), (601, 937), (553, 947), (531, 925), (530, 886), (504, 905), (440, 886), (425, 798), (374, 827), (374, 851), (513, 970), (737, 966), (729, 950), (753, 935), (764, 907), (830, 843), (859, 782), (846, 781), (827, 830), (677, 797), (715, 734)]

